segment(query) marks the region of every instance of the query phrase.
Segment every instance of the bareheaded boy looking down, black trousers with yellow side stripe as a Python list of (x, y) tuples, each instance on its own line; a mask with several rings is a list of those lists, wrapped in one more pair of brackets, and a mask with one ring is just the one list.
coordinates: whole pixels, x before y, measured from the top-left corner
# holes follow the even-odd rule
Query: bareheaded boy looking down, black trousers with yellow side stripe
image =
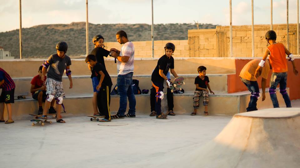
[(96, 86), (96, 90), (99, 91), (97, 95), (97, 105), (99, 111), (105, 115), (105, 118), (99, 120), (99, 122), (110, 122), (110, 91), (112, 88), (112, 79), (110, 78), (107, 70), (104, 65), (97, 62), (95, 55), (88, 55), (85, 59), (85, 62), (92, 67), (92, 72), (95, 74), (99, 80), (99, 84)]

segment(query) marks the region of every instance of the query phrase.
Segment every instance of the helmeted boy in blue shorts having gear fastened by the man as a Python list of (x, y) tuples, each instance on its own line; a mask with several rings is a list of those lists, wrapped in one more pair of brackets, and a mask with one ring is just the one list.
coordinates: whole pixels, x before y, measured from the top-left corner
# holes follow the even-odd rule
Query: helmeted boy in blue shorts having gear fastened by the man
[[(105, 68), (105, 63), (104, 63), (103, 57), (107, 57), (109, 55), (109, 51), (104, 49), (104, 37), (101, 35), (96, 35), (93, 37), (92, 42), (93, 42), (95, 48), (93, 49), (91, 54), (95, 55), (97, 62), (102, 64)], [(88, 69), (92, 71), (92, 67), (90, 65), (88, 65)], [(92, 71), (91, 79), (92, 79), (92, 84), (93, 84), (93, 110), (94, 110), (93, 115), (100, 116), (102, 114), (101, 114), (101, 112), (100, 113), (98, 112), (98, 105), (97, 105), (98, 91), (96, 89), (96, 87), (99, 84), (99, 80), (97, 79), (94, 71)]]

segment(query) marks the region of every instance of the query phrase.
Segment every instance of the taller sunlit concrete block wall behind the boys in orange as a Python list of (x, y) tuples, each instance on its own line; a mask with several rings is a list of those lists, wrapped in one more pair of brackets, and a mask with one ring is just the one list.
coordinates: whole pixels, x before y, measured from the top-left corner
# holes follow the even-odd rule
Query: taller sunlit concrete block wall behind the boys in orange
[[(277, 33), (277, 42), (287, 47), (285, 24), (273, 25)], [(254, 56), (262, 57), (266, 47), (266, 32), (270, 25), (254, 25)], [(230, 56), (229, 26), (217, 26), (216, 29), (188, 30), (190, 57), (228, 57)], [(297, 54), (297, 24), (289, 25), (290, 51)], [(232, 56), (252, 57), (251, 25), (232, 26)]]

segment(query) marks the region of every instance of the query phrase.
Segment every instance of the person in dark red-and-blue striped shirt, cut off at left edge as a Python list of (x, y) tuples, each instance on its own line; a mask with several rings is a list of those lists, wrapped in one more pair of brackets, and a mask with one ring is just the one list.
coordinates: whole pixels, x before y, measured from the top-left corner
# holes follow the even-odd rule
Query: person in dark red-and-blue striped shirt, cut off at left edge
[(0, 122), (4, 122), (4, 103), (8, 112), (8, 120), (5, 123), (10, 124), (14, 122), (12, 120), (12, 105), (10, 103), (14, 103), (15, 87), (16, 85), (9, 74), (0, 68), (0, 89), (2, 89), (0, 95)]

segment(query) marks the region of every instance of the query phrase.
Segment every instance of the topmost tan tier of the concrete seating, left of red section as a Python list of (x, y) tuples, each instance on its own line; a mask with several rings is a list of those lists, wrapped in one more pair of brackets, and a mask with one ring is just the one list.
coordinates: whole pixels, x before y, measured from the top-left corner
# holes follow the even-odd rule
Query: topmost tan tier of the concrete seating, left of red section
[[(37, 74), (38, 67), (44, 59), (0, 60), (0, 67), (13, 78), (32, 77)], [(90, 75), (84, 59), (71, 59), (70, 69), (73, 75)], [(134, 75), (151, 75), (157, 65), (158, 58), (136, 58), (134, 60)], [(235, 58), (175, 58), (177, 74), (196, 74), (198, 66), (207, 67), (207, 74), (235, 74)], [(117, 65), (114, 59), (105, 60), (105, 66), (110, 75), (117, 75)]]

